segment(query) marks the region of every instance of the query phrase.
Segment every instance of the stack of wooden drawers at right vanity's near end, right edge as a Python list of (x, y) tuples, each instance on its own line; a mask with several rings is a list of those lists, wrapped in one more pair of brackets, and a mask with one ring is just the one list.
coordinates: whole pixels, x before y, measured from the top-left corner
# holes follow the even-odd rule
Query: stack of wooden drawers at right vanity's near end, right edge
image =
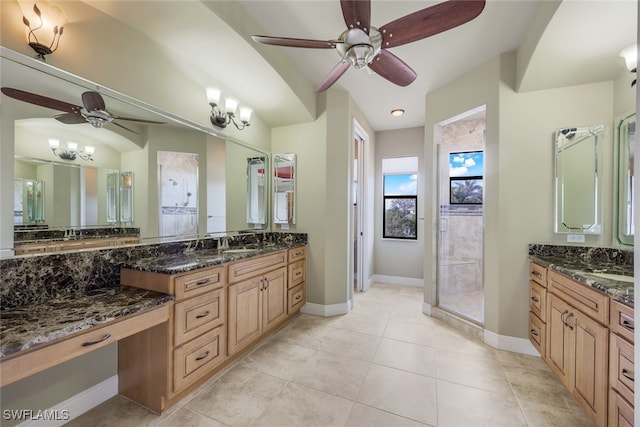
[(609, 426), (633, 426), (634, 309), (611, 302), (609, 321)]

